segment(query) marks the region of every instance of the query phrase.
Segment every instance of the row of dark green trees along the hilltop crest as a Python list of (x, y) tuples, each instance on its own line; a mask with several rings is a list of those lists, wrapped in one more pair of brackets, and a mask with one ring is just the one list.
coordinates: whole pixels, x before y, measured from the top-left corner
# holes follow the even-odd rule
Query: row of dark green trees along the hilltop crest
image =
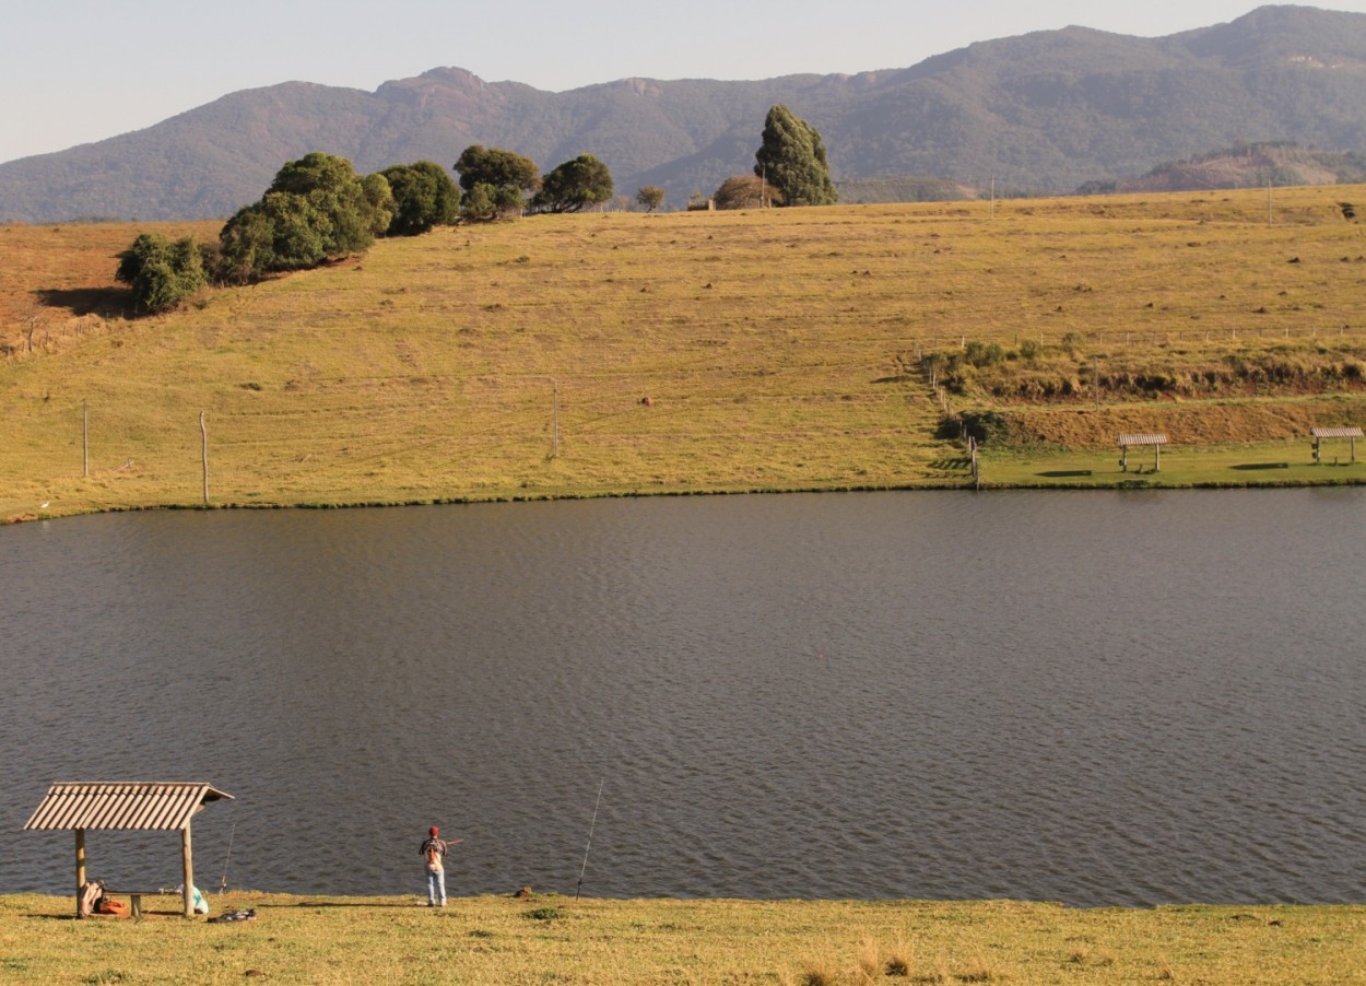
[[(820, 134), (781, 105), (765, 120), (754, 165), (762, 205), (826, 205), (836, 201)], [(302, 270), (366, 250), (377, 236), (415, 236), (437, 225), (490, 223), (525, 213), (570, 213), (612, 198), (612, 175), (593, 154), (579, 154), (545, 175), (512, 150), (471, 145), (452, 168), (433, 161), (357, 175), (351, 161), (313, 152), (287, 163), (270, 187), (243, 206), (217, 244), (171, 242), (142, 234), (119, 255), (115, 277), (131, 290), (141, 313), (176, 307), (210, 281), (250, 284), (269, 273)], [(740, 176), (743, 178), (743, 176)], [(746, 208), (727, 191), (721, 208)], [(635, 201), (653, 212), (664, 190), (643, 186)], [(743, 198), (744, 202), (749, 198)]]

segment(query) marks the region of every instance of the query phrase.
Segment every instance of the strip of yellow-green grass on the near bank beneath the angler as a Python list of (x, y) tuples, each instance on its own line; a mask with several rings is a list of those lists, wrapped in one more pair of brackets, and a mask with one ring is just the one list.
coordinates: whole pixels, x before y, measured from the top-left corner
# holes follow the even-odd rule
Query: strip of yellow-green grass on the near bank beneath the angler
[(184, 920), (71, 919), (0, 897), (0, 981), (44, 983), (1259, 983), (1361, 982), (1361, 907), (1065, 910), (1012, 901), (295, 897), (228, 893)]

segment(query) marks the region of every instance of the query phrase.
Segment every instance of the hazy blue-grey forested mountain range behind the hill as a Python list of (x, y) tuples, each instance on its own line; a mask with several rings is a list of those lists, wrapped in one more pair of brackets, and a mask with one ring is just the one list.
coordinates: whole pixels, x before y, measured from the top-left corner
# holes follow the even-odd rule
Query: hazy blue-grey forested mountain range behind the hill
[(310, 150), (367, 173), (423, 158), (449, 165), (471, 143), (516, 150), (542, 171), (591, 153), (620, 194), (658, 184), (679, 208), (753, 168), (776, 102), (821, 132), (837, 182), (933, 176), (1057, 194), (1216, 147), (1362, 153), (1366, 14), (1261, 7), (1161, 38), (1065, 27), (910, 68), (755, 82), (632, 78), (550, 93), (460, 68), (373, 93), (285, 82), (0, 164), (0, 220), (225, 217)]

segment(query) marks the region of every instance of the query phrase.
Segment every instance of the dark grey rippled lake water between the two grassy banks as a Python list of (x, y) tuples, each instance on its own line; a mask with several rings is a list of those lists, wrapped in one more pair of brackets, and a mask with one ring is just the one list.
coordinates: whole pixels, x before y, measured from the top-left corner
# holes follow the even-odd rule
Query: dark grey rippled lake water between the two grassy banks
[[(57, 780), (198, 882), (1366, 900), (1366, 492), (911, 493), (0, 529), (0, 892)], [(598, 788), (601, 806), (585, 848)], [(228, 847), (231, 843), (231, 855)], [(178, 882), (173, 834), (92, 874)]]

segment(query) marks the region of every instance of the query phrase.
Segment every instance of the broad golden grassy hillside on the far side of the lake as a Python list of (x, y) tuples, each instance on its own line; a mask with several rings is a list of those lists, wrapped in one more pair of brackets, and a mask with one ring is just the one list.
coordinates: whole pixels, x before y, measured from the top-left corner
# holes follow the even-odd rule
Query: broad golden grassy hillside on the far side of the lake
[[(0, 292), (0, 518), (199, 504), (201, 411), (213, 505), (959, 486), (960, 419), (1024, 449), (1011, 482), (1063, 451), (1117, 482), (1113, 434), (1154, 429), (1272, 442), (1169, 449), (1164, 482), (1325, 479), (1306, 427), (1363, 417), (1344, 201), (1366, 187), (1277, 190), (1272, 223), (1265, 191), (544, 216), (137, 321), (138, 227), (0, 227), (29, 272)], [(1264, 455), (1294, 462), (1239, 468)]]

